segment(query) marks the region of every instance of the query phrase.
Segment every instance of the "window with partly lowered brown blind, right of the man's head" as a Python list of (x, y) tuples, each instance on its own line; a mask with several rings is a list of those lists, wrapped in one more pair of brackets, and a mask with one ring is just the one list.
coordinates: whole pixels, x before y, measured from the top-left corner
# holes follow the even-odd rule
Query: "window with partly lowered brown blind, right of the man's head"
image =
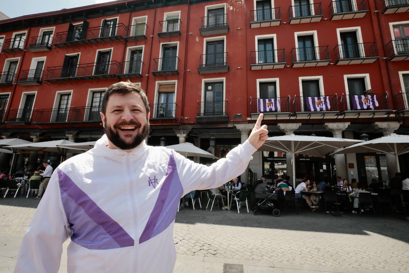
[(156, 117), (174, 117), (176, 84), (162, 84), (158, 87)]

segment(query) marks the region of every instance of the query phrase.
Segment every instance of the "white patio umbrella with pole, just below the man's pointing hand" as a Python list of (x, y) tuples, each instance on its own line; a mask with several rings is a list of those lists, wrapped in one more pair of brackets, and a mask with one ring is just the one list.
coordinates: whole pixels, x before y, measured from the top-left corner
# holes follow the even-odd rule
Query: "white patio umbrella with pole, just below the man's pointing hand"
[(292, 156), (292, 181), (295, 187), (295, 154), (306, 156), (325, 156), (336, 149), (350, 146), (362, 140), (346, 138), (328, 138), (309, 135), (283, 135), (267, 138), (258, 151), (281, 151)]

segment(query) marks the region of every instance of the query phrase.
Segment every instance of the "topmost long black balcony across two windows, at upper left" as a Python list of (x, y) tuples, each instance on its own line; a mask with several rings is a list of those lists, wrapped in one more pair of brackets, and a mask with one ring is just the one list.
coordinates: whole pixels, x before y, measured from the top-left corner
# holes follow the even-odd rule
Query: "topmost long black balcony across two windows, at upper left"
[(90, 27), (86, 30), (58, 32), (54, 38), (54, 46), (69, 47), (124, 40), (126, 31), (125, 25), (121, 23), (114, 27)]

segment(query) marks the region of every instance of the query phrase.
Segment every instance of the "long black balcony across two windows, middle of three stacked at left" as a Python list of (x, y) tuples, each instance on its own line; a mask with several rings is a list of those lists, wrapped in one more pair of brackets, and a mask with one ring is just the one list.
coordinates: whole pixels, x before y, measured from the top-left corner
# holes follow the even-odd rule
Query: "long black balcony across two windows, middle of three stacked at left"
[(90, 79), (115, 78), (119, 71), (117, 61), (100, 63), (83, 63), (74, 67), (54, 66), (47, 69), (45, 81), (63, 82)]

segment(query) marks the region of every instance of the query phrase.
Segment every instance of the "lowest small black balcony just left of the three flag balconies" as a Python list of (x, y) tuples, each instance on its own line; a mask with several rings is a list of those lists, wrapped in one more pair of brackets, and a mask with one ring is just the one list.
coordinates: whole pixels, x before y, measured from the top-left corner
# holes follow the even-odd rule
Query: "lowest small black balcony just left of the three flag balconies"
[(225, 101), (198, 101), (198, 115), (196, 122), (228, 122), (227, 100)]

